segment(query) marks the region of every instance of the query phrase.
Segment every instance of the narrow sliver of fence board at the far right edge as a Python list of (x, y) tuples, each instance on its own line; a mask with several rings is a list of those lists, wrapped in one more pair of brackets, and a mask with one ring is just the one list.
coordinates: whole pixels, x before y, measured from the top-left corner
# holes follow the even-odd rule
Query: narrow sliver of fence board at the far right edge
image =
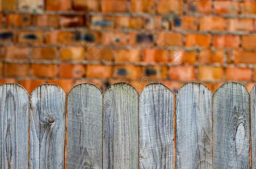
[(256, 85), (250, 92), (251, 101), (251, 168), (256, 169)]

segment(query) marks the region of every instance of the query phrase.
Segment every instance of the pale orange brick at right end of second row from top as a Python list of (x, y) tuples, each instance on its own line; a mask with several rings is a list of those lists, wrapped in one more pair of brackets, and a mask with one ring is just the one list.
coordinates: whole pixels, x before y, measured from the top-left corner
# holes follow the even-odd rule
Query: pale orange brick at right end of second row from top
[(229, 19), (228, 30), (239, 31), (239, 30), (253, 30), (254, 20), (253, 19)]

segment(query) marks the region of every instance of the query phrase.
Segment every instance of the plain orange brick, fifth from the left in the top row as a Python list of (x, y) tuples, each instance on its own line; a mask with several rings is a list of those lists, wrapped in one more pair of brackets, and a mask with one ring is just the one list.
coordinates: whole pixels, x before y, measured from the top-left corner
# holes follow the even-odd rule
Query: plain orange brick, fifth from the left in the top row
[(127, 0), (102, 0), (102, 12), (126, 12), (126, 5)]

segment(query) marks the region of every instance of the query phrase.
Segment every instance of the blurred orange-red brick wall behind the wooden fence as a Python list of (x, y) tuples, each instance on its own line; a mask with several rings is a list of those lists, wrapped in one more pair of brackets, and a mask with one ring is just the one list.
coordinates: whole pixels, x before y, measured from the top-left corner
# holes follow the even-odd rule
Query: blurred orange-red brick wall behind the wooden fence
[(0, 83), (256, 83), (254, 0), (0, 0)]

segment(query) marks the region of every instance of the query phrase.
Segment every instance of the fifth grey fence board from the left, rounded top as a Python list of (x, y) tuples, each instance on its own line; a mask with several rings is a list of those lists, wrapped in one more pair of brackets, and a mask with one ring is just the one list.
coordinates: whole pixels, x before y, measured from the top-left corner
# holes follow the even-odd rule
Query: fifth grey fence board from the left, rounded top
[(139, 97), (139, 168), (174, 169), (173, 93), (161, 83)]

